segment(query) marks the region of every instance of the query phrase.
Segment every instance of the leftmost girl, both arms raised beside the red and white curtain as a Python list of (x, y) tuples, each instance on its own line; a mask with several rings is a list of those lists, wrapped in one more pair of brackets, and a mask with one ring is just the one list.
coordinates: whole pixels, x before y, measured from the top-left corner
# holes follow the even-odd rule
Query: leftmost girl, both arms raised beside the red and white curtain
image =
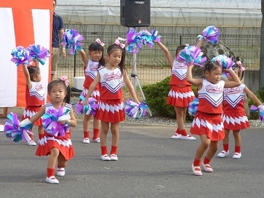
[[(26, 77), (26, 108), (24, 110), (22, 120), (31, 118), (33, 115), (38, 113), (42, 105), (44, 105), (45, 92), (41, 82), (40, 67), (38, 60), (34, 60), (35, 66), (23, 65), (23, 71)], [(42, 118), (37, 119), (34, 123), (38, 126), (38, 142), (43, 137), (44, 129), (42, 126)], [(29, 131), (32, 131), (29, 129)], [(29, 135), (31, 140), (28, 141), (29, 146), (35, 146), (36, 143), (33, 140), (33, 135)]]

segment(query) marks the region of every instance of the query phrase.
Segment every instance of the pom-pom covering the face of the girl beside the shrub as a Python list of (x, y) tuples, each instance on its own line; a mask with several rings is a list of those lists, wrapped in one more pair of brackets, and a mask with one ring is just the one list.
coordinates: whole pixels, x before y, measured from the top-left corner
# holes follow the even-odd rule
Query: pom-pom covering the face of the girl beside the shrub
[(203, 53), (201, 52), (201, 49), (199, 49), (199, 47), (186, 46), (185, 49), (181, 50), (178, 54), (177, 60), (179, 60), (179, 62), (186, 63), (186, 65), (195, 64), (203, 67), (201, 63), (204, 63), (207, 58), (202, 58), (201, 56), (203, 56)]

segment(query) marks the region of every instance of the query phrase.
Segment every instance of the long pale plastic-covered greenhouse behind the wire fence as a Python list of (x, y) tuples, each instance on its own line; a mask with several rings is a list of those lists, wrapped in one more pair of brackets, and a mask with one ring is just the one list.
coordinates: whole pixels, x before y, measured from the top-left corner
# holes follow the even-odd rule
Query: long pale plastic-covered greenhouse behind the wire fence
[[(106, 43), (106, 47), (118, 37), (126, 38), (128, 27), (120, 25), (118, 0), (57, 0), (56, 13), (63, 17), (65, 28), (76, 29), (83, 35), (83, 49), (86, 52), (89, 44), (97, 38)], [(213, 25), (220, 31), (220, 40), (242, 57), (245, 67), (259, 67), (262, 20), (260, 0), (151, 0), (150, 13), (150, 26), (136, 29), (158, 31), (172, 56), (179, 44), (195, 44), (197, 35), (206, 26)], [(152, 49), (142, 47), (136, 56), (134, 63), (133, 55), (128, 53), (126, 65), (131, 73), (137, 67), (142, 84), (156, 83), (170, 76), (167, 59), (155, 44)], [(79, 53), (61, 59), (59, 65), (60, 73), (67, 74), (69, 79), (83, 76)]]

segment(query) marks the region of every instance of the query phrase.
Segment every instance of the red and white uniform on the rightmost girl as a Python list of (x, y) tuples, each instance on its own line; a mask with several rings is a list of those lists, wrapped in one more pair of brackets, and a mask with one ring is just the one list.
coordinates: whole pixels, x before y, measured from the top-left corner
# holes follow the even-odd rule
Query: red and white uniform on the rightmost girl
[(224, 88), (224, 129), (240, 130), (249, 128), (249, 120), (244, 108), (245, 84), (236, 88)]

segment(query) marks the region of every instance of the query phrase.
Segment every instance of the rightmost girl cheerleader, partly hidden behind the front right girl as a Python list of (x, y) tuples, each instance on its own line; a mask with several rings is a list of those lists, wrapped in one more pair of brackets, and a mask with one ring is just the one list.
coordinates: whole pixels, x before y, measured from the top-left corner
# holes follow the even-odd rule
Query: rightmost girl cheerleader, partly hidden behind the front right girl
[[(241, 61), (238, 61), (232, 67), (233, 72), (242, 79), (245, 68), (242, 67)], [(228, 76), (229, 81), (233, 81), (231, 76)], [(261, 101), (252, 93), (245, 84), (242, 84), (236, 88), (224, 89), (224, 113), (222, 119), (224, 122), (224, 150), (217, 156), (224, 158), (229, 154), (229, 131), (233, 130), (233, 138), (235, 139), (235, 154), (233, 158), (241, 157), (241, 137), (240, 130), (249, 128), (249, 121), (244, 109), (244, 93), (249, 98), (261, 105)]]

